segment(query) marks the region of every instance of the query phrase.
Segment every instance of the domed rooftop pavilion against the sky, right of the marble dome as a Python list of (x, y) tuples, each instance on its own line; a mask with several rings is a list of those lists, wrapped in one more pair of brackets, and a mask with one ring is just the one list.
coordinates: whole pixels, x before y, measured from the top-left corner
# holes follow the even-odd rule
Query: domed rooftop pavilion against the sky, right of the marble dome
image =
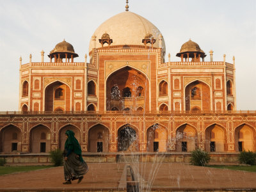
[(189, 61), (189, 58), (192, 58), (192, 62), (200, 62), (200, 58), (204, 61), (206, 54), (202, 49), (200, 49), (196, 42), (189, 39), (188, 42), (181, 46), (180, 52), (178, 52), (176, 56), (180, 57), (182, 62), (183, 58), (185, 58), (185, 61)]

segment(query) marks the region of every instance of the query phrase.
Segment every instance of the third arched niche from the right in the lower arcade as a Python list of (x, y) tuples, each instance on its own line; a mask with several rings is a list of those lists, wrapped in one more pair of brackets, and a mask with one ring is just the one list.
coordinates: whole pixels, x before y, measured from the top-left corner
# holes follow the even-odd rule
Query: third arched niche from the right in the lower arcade
[(181, 125), (176, 130), (177, 152), (191, 152), (197, 146), (197, 131), (189, 124)]

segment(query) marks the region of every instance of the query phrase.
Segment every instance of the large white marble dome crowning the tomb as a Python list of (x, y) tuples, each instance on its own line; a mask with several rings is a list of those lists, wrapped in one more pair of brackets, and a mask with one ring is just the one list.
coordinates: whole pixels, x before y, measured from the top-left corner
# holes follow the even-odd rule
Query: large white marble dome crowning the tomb
[[(144, 45), (143, 38), (151, 34), (156, 39), (153, 47), (159, 48), (159, 35), (161, 34), (154, 24), (150, 21), (132, 12), (122, 12), (103, 22), (99, 28), (95, 30), (92, 36), (96, 36), (95, 48), (102, 47), (99, 38), (104, 33), (108, 33), (113, 40), (111, 45)], [(91, 38), (89, 52), (94, 47)], [(106, 44), (104, 46), (107, 46)], [(150, 44), (148, 44), (150, 46)], [(164, 38), (162, 37), (162, 48), (165, 52)]]

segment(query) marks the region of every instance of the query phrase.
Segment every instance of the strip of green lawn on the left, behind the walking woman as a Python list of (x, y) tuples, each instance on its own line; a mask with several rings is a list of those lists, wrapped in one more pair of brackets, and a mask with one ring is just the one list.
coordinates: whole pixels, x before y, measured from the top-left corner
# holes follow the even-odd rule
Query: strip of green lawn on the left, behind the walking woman
[(0, 166), (0, 175), (17, 173), (17, 172), (29, 172), (34, 170), (42, 170), (45, 168), (51, 168), (52, 165), (45, 166)]

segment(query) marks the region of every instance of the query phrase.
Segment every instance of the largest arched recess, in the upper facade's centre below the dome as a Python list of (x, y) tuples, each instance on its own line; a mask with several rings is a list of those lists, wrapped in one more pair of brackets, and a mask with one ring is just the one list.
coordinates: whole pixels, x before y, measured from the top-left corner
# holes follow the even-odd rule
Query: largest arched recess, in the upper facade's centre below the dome
[(149, 106), (149, 81), (139, 70), (126, 66), (113, 72), (106, 79), (106, 110), (115, 108), (123, 111), (142, 107), (146, 111)]

